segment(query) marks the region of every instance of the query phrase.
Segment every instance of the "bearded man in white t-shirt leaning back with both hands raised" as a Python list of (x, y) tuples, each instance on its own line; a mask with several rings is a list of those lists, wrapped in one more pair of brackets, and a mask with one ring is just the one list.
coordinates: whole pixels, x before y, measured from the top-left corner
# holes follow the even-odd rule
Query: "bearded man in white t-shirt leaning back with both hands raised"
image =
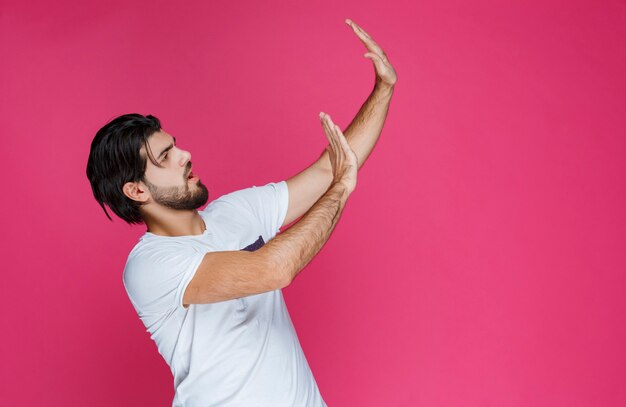
[[(120, 116), (94, 138), (87, 177), (107, 205), (147, 230), (124, 268), (126, 292), (174, 376), (173, 406), (325, 406), (281, 289), (319, 252), (376, 144), (396, 73), (368, 49), (376, 85), (345, 136), (320, 120), (329, 146), (279, 183), (208, 201), (191, 154), (151, 115)], [(288, 230), (279, 229), (301, 219)]]

